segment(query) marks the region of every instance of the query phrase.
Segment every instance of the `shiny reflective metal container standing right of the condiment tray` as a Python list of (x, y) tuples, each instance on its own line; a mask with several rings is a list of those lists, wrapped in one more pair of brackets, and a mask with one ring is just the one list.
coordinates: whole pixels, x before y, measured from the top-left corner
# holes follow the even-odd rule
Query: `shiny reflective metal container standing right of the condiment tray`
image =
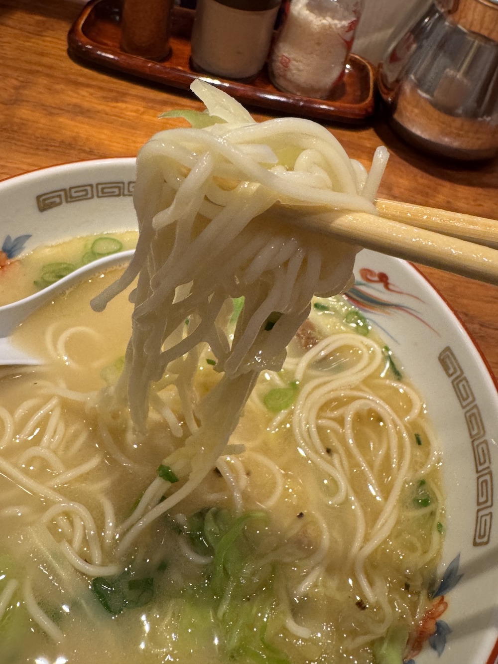
[(498, 155), (497, 39), (498, 0), (430, 5), (378, 68), (393, 129), (444, 157)]

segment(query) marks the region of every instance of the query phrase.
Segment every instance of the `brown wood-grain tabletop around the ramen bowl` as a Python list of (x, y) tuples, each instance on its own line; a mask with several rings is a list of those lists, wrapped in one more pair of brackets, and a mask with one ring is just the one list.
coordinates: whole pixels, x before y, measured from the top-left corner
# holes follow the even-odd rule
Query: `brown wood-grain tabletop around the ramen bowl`
[[(135, 155), (171, 108), (201, 108), (190, 94), (73, 62), (66, 36), (78, 0), (0, 0), (0, 179), (68, 161)], [(254, 115), (261, 120), (257, 110)], [(171, 121), (173, 124), (173, 121)], [(391, 157), (379, 196), (496, 218), (498, 161), (459, 165), (420, 155), (382, 118), (330, 126), (349, 155)], [(498, 376), (498, 289), (430, 268), (422, 272), (461, 317)]]

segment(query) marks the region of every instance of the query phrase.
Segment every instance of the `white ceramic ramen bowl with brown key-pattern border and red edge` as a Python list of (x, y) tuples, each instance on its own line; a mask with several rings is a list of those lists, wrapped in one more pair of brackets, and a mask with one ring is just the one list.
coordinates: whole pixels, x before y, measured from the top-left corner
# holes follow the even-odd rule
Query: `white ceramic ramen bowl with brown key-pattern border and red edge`
[[(72, 236), (136, 228), (134, 179), (134, 159), (102, 159), (1, 182), (2, 250), (15, 257)], [(495, 664), (495, 382), (461, 323), (413, 266), (365, 250), (357, 258), (355, 273), (351, 297), (424, 394), (444, 450), (447, 529), (439, 594), (448, 608), (438, 616), (437, 632), (416, 664)]]

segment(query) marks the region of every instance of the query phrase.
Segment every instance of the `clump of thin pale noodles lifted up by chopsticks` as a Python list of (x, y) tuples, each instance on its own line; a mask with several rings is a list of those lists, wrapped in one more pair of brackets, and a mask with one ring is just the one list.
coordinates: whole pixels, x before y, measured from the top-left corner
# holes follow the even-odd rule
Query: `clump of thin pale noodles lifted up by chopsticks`
[[(190, 475), (187, 485), (197, 485), (216, 463), (258, 374), (282, 367), (313, 295), (351, 284), (359, 247), (310, 232), (300, 220), (324, 211), (331, 220), (344, 210), (376, 213), (387, 155), (378, 148), (367, 174), (315, 122), (256, 123), (224, 92), (200, 80), (192, 90), (207, 111), (185, 112), (193, 128), (161, 131), (140, 150), (137, 250), (123, 276), (92, 303), (104, 309), (138, 276), (114, 398), (129, 406), (135, 430), (145, 432), (151, 385), (171, 376), (191, 436), (168, 464), (179, 477)], [(238, 297), (244, 307), (231, 336), (227, 323)], [(195, 404), (203, 343), (222, 378)], [(186, 495), (184, 488), (177, 493)], [(170, 506), (166, 500), (156, 509)]]

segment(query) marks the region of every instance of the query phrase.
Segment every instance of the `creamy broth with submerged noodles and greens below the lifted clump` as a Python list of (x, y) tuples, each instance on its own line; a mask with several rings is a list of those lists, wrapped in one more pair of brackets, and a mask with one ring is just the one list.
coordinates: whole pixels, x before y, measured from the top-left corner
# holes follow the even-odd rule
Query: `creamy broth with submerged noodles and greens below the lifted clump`
[[(1, 663), (401, 662), (444, 518), (437, 444), (400, 362), (345, 299), (315, 301), (227, 454), (121, 552), (161, 501), (154, 480), (182, 489), (162, 461), (189, 414), (167, 376), (144, 440), (106, 410), (131, 305), (88, 302), (115, 277), (26, 321), (17, 341), (46, 366), (1, 380)], [(217, 380), (205, 347), (193, 398)]]

